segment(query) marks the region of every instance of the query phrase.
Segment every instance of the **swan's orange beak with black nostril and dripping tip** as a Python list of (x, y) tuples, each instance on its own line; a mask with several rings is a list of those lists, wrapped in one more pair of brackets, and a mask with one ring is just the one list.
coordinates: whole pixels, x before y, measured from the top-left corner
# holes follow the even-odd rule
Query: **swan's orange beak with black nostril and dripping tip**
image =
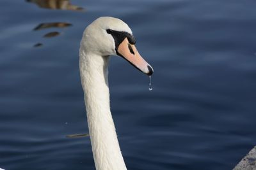
[(148, 74), (148, 76), (153, 74), (153, 68), (141, 57), (135, 45), (129, 43), (127, 38), (120, 43), (117, 52), (143, 73)]

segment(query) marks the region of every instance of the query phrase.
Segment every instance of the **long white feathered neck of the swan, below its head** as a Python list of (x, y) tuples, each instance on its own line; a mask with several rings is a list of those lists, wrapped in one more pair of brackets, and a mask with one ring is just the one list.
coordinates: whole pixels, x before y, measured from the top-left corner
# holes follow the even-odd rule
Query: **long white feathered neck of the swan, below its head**
[(97, 170), (126, 170), (109, 106), (108, 56), (80, 51), (79, 67)]

